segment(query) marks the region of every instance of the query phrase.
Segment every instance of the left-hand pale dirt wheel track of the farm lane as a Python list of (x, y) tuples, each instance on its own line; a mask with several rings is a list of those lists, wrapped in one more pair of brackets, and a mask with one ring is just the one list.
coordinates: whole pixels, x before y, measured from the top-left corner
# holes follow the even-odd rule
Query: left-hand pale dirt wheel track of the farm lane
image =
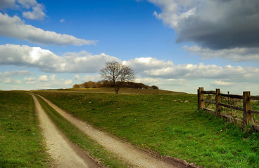
[(49, 116), (46, 115), (42, 106), (34, 95), (35, 109), (39, 116), (39, 126), (46, 140), (46, 146), (51, 158), (53, 158), (53, 167), (98, 167), (91, 160), (87, 153), (84, 153), (78, 146), (72, 144), (63, 133), (53, 124)]

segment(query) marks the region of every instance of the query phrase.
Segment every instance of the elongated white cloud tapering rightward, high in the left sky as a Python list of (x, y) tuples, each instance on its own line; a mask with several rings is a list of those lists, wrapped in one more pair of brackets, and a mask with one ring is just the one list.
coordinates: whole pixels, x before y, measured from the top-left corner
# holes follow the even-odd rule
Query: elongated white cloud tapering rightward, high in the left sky
[(33, 43), (46, 45), (90, 45), (96, 43), (96, 41), (87, 41), (68, 34), (44, 31), (32, 25), (26, 25), (18, 16), (10, 17), (3, 13), (0, 13), (0, 25), (1, 36), (10, 36)]

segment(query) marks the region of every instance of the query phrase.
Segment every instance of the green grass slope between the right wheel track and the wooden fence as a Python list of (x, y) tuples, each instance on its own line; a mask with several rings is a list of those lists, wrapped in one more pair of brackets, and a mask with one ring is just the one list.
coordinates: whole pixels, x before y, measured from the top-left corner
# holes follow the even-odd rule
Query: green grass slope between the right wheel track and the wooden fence
[(196, 111), (194, 94), (39, 92), (101, 130), (205, 167), (258, 167), (259, 134)]

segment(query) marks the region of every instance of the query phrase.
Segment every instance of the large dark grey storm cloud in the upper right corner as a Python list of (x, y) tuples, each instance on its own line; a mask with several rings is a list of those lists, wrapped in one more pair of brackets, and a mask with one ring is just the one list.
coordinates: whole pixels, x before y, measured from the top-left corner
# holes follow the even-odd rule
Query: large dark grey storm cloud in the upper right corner
[[(253, 48), (259, 46), (259, 1), (218, 1), (222, 17), (207, 20), (206, 13), (197, 8), (198, 15), (191, 15), (179, 24), (178, 39), (193, 41), (212, 49)], [(229, 8), (224, 8), (229, 6)], [(225, 10), (220, 10), (222, 7)], [(202, 8), (202, 7), (201, 7)], [(199, 15), (200, 14), (200, 15)], [(217, 13), (214, 13), (217, 15)]]

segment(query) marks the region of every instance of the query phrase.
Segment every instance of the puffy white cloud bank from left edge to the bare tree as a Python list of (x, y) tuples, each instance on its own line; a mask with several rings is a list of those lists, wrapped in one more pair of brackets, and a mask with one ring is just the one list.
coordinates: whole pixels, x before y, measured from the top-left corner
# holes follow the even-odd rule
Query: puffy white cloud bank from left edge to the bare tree
[(37, 67), (44, 72), (98, 73), (106, 62), (118, 59), (104, 53), (67, 52), (58, 56), (50, 50), (28, 45), (0, 45), (0, 64)]

